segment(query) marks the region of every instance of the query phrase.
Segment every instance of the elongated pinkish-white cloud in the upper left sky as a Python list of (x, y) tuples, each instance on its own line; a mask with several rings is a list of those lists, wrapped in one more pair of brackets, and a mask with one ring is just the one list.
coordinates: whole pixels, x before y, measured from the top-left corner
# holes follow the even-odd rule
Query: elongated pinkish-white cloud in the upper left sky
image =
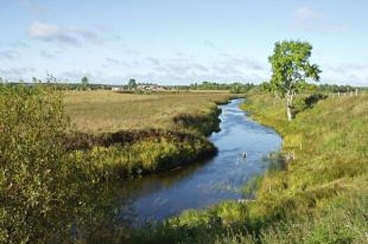
[(82, 41), (101, 44), (101, 40), (94, 31), (76, 25), (59, 26), (57, 24), (34, 22), (29, 26), (28, 35), (34, 39), (75, 46), (79, 46)]

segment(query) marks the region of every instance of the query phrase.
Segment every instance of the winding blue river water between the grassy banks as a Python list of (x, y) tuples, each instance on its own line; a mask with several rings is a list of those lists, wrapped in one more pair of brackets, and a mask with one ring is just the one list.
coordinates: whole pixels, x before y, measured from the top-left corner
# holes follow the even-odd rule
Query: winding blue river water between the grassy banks
[(221, 131), (209, 137), (219, 149), (214, 158), (131, 183), (129, 205), (135, 222), (162, 220), (189, 208), (244, 197), (240, 188), (270, 167), (267, 155), (279, 151), (281, 137), (250, 119), (239, 108), (242, 102), (237, 99), (220, 106)]

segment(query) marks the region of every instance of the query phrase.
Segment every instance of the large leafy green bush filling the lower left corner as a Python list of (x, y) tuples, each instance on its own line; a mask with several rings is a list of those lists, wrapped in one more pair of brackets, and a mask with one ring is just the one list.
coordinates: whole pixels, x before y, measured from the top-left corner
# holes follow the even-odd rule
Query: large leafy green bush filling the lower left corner
[(63, 144), (68, 120), (52, 87), (0, 84), (0, 242), (64, 242), (89, 181)]

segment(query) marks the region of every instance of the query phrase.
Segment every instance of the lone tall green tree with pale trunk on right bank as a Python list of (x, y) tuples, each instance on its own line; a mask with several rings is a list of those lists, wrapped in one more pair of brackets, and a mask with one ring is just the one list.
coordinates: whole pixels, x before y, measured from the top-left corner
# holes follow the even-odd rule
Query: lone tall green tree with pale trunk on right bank
[(300, 40), (284, 40), (274, 45), (274, 54), (269, 57), (272, 78), (266, 86), (268, 91), (276, 92), (286, 98), (286, 114), (291, 121), (293, 100), (297, 93), (306, 87), (307, 79), (319, 81), (322, 72), (316, 64), (309, 63), (312, 46)]

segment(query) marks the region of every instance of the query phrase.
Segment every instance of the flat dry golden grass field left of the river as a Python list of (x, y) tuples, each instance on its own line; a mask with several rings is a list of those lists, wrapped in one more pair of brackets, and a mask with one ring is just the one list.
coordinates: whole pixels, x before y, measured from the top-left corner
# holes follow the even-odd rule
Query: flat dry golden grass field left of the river
[(164, 93), (135, 95), (112, 91), (68, 91), (66, 113), (75, 129), (113, 132), (126, 129), (172, 128), (179, 114), (204, 114), (230, 93)]

